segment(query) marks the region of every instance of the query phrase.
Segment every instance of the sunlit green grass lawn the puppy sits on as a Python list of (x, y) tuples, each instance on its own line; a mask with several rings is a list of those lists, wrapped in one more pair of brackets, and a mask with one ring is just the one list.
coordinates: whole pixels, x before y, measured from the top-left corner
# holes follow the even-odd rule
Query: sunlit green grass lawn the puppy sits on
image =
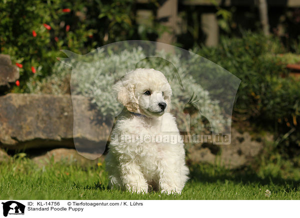
[[(40, 167), (30, 159), (0, 163), (0, 199), (300, 199), (299, 182), (211, 165), (190, 167), (182, 194), (128, 193), (107, 188), (104, 165), (54, 163)], [(265, 190), (271, 191), (267, 196)]]

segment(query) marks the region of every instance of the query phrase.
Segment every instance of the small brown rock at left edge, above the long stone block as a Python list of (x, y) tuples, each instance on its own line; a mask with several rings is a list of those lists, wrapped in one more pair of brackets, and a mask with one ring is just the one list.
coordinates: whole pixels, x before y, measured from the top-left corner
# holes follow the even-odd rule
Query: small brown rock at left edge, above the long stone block
[(7, 54), (0, 54), (0, 93), (6, 91), (10, 84), (19, 78), (18, 68), (11, 65), (10, 56)]

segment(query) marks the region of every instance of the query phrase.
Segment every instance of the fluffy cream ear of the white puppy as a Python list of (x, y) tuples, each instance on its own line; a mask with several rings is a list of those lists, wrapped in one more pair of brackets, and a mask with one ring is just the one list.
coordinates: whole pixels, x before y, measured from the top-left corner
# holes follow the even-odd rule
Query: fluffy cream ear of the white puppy
[(120, 80), (112, 87), (117, 92), (117, 100), (130, 112), (138, 110), (138, 101), (135, 97), (135, 86), (128, 80)]

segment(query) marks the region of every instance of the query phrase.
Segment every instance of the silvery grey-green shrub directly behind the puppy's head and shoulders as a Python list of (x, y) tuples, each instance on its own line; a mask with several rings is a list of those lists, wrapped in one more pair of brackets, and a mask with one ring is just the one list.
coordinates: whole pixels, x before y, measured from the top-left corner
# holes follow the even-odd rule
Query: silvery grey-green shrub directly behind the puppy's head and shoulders
[[(223, 118), (218, 102), (211, 100), (208, 91), (204, 90), (188, 72), (190, 62), (182, 61), (180, 56), (163, 51), (156, 54), (161, 58), (144, 59), (146, 54), (141, 47), (125, 49), (120, 53), (110, 52), (109, 55), (103, 49), (97, 49), (87, 55), (73, 56), (58, 62), (54, 65), (56, 74), (36, 83), (35, 86), (28, 86), (30, 92), (47, 92), (51, 89), (54, 94), (64, 93), (61, 90), (63, 87), (61, 82), (70, 76), (70, 67), (64, 64), (66, 62), (72, 66), (71, 93), (89, 97), (105, 119), (114, 117), (122, 109), (122, 105), (117, 102), (112, 91), (112, 85), (134, 68), (154, 68), (163, 72), (171, 84), (172, 112), (176, 115), (178, 128), (181, 131), (189, 131), (191, 128), (195, 133), (201, 133), (205, 129), (210, 130), (210, 124), (215, 128), (212, 129), (213, 131), (221, 131), (223, 126), (228, 124), (228, 120)], [(164, 59), (174, 64), (169, 64)], [(137, 62), (137, 60), (142, 61)], [(180, 75), (182, 83), (178, 81), (174, 71)], [(47, 86), (50, 88), (45, 88)], [(190, 99), (191, 96), (193, 100)], [(195, 110), (190, 113), (192, 118), (189, 120), (189, 115), (183, 113), (183, 110), (189, 108), (190, 104), (193, 104), (194, 109), (199, 109), (202, 114), (205, 114), (211, 123), (205, 121), (201, 113)]]

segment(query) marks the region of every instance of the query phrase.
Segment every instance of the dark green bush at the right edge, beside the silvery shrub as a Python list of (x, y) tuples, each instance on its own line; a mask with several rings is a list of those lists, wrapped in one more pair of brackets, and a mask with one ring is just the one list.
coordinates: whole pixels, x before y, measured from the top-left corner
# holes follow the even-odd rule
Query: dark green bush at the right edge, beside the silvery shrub
[(278, 38), (251, 32), (244, 32), (241, 38), (223, 37), (217, 47), (197, 48), (199, 55), (241, 79), (233, 116), (272, 130), (282, 152), (297, 154), (300, 82), (287, 76), (286, 58), (275, 55), (283, 52)]

